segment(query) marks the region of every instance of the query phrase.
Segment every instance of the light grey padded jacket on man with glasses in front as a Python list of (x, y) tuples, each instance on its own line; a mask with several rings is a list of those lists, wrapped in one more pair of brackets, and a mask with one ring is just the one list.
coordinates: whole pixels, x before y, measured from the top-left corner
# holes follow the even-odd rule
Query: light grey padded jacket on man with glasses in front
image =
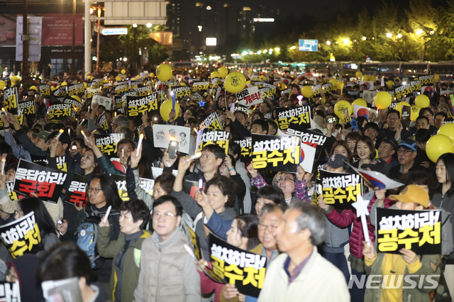
[(200, 277), (194, 259), (184, 249), (187, 237), (177, 228), (160, 241), (153, 233), (142, 243), (135, 302), (200, 302)]

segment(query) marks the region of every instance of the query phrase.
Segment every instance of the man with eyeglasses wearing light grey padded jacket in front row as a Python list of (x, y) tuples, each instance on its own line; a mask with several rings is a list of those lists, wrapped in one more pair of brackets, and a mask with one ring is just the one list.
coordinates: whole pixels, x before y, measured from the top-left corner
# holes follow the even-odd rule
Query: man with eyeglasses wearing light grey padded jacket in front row
[(200, 276), (194, 260), (184, 249), (187, 237), (179, 230), (183, 207), (177, 198), (169, 195), (153, 203), (153, 230), (143, 240), (140, 274), (135, 302), (199, 302)]

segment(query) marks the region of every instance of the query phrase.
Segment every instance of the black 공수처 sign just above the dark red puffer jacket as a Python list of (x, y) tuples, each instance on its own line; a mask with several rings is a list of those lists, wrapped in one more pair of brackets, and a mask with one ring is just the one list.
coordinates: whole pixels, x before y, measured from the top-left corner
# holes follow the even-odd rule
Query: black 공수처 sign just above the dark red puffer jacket
[(362, 194), (362, 178), (356, 173), (320, 171), (323, 199), (334, 208), (352, 208), (356, 197)]

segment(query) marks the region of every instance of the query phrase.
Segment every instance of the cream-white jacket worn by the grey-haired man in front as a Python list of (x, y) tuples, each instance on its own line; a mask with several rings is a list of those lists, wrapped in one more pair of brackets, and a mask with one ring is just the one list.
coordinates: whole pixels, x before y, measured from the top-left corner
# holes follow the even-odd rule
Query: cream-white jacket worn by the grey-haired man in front
[(321, 257), (317, 247), (314, 247), (311, 258), (291, 284), (284, 270), (287, 257), (287, 254), (279, 255), (267, 268), (258, 302), (350, 301), (345, 276), (331, 262)]

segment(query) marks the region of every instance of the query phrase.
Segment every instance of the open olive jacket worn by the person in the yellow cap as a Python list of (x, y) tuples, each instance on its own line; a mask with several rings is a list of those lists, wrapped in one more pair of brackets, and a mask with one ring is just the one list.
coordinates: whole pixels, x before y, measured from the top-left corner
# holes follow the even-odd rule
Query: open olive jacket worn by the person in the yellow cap
[[(383, 284), (383, 272), (382, 272), (382, 264), (383, 264), (383, 258), (386, 253), (380, 252), (376, 254), (375, 260), (372, 259), (373, 263), (371, 260), (365, 259), (365, 269), (366, 269), (366, 274), (367, 276), (374, 275), (373, 283), (374, 284), (380, 284), (378, 286), (369, 286), (369, 288), (366, 288), (365, 296), (364, 296), (364, 301), (367, 302), (380, 302), (381, 301), (381, 295), (382, 295), (382, 284)], [(421, 261), (421, 267), (416, 271), (416, 272), (411, 272), (409, 273), (409, 268), (408, 266), (405, 268), (405, 274), (404, 278), (402, 278), (404, 281), (403, 284), (403, 289), (402, 289), (402, 302), (429, 302), (430, 299), (428, 297), (428, 293), (436, 289), (434, 288), (434, 284), (438, 284), (438, 281), (440, 280), (440, 274), (441, 274), (441, 269), (440, 267), (437, 268), (436, 272), (433, 272), (433, 269), (431, 268), (431, 263), (436, 263), (439, 259), (439, 255), (423, 255), (418, 256), (418, 258)], [(405, 281), (405, 276), (411, 274), (411, 280), (413, 281), (414, 284), (416, 282), (418, 283), (418, 286), (416, 286), (416, 289), (412, 289), (413, 286), (409, 282)], [(431, 276), (431, 280), (433, 283), (430, 281), (428, 282), (427, 276)], [(391, 278), (391, 276), (388, 275), (388, 278)], [(399, 278), (396, 277), (397, 280)], [(391, 279), (392, 280), (392, 279)], [(417, 281), (416, 281), (417, 280)], [(422, 284), (421, 284), (422, 281)], [(397, 282), (397, 281), (394, 281)], [(394, 283), (395, 284), (395, 283)], [(421, 289), (419, 289), (420, 284)], [(405, 288), (407, 287), (407, 289)]]

